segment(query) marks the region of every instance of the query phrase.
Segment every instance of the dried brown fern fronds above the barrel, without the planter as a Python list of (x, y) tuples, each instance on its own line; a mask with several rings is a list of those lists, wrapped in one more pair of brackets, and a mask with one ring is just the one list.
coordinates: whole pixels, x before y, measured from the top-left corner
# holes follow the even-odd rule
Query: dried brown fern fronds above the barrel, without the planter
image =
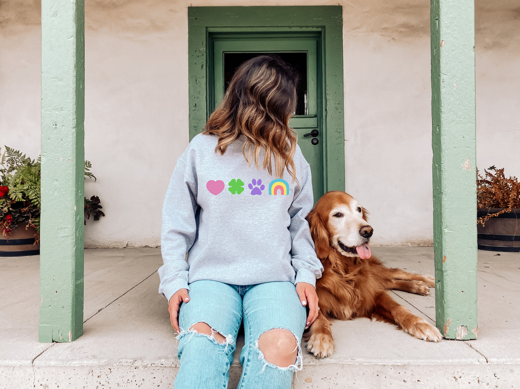
[[(494, 171), (495, 173), (493, 174)], [(488, 213), (480, 217), (477, 224), (484, 223), (501, 213), (511, 212), (520, 208), (520, 182), (516, 177), (505, 178), (504, 168), (497, 169), (495, 165), (484, 169), (485, 177), (477, 170), (477, 208), (502, 208), (499, 212)]]

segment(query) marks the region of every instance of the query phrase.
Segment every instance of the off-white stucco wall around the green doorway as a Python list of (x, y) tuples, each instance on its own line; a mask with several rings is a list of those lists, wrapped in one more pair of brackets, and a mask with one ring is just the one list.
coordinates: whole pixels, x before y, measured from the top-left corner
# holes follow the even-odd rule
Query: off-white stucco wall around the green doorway
[[(520, 8), (476, 2), (477, 165), (520, 176)], [(85, 157), (107, 216), (87, 247), (157, 246), (162, 200), (188, 144), (187, 7), (256, 1), (86, 0)], [(430, 2), (343, 6), (346, 191), (373, 242), (432, 244)], [(0, 6), (0, 145), (40, 153), (40, 5)]]

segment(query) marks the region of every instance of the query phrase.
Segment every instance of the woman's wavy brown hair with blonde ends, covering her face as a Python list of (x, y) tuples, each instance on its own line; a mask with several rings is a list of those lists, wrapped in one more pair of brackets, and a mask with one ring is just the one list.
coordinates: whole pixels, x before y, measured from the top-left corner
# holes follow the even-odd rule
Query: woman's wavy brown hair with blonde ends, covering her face
[(285, 168), (296, 180), (293, 157), (296, 135), (289, 119), (296, 110), (298, 76), (278, 56), (263, 55), (243, 62), (231, 78), (222, 103), (207, 120), (205, 134), (218, 136), (215, 152), (226, 152), (228, 144), (245, 136), (243, 154), (258, 168), (258, 156), (265, 151), (264, 169), (282, 178)]

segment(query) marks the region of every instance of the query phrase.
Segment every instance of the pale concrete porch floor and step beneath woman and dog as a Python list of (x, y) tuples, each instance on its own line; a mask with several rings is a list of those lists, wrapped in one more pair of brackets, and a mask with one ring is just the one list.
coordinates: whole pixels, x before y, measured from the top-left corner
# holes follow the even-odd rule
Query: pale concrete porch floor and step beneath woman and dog
[[(434, 275), (432, 247), (373, 247), (386, 265)], [(177, 341), (159, 296), (159, 248), (85, 250), (84, 334), (38, 343), (39, 257), (0, 258), (0, 388), (173, 388)], [(478, 340), (427, 343), (393, 326), (336, 321), (336, 352), (304, 352), (294, 388), (520, 387), (520, 253), (478, 251)], [(390, 292), (434, 324), (427, 297)], [(239, 339), (231, 368), (236, 387)]]

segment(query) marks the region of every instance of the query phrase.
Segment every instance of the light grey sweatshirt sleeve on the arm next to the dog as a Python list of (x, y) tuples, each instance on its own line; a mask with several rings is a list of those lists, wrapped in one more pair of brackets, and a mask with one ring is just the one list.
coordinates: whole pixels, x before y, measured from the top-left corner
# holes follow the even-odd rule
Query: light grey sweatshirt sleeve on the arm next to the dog
[(305, 161), (301, 164), (300, 185), (296, 186), (294, 199), (289, 208), (291, 225), (289, 231), (292, 238), (292, 266), (296, 272), (294, 284), (304, 282), (316, 285), (321, 277), (323, 266), (316, 257), (313, 239), (310, 236), (309, 223), (305, 220), (307, 213), (313, 208), (313, 183), (310, 166)]

